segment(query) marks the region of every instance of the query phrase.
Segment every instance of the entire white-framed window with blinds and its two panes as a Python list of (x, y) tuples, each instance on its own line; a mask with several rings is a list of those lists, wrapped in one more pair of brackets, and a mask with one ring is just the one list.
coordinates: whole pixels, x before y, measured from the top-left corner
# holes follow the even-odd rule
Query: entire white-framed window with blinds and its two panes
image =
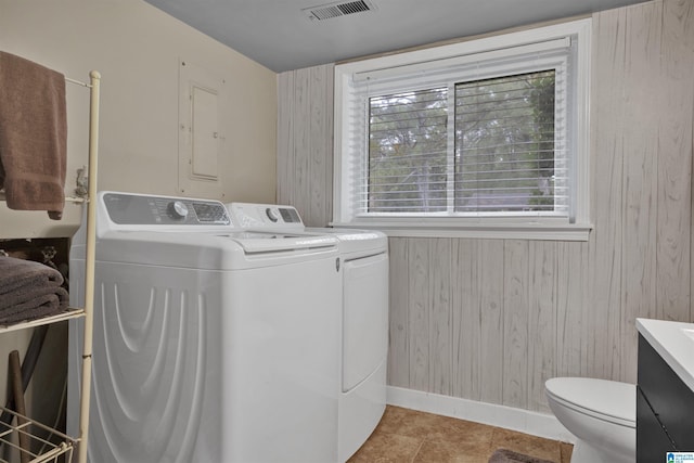
[(334, 223), (584, 240), (590, 20), (335, 68)]

